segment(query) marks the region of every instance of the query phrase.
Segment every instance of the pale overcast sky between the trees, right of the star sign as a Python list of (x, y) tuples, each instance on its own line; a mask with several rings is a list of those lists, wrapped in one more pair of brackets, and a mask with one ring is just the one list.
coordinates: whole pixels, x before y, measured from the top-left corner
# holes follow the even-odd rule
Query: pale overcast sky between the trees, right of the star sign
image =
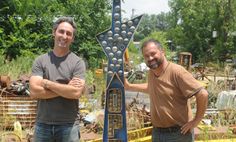
[(159, 14), (170, 10), (168, 0), (124, 0), (124, 3), (121, 2), (121, 9), (126, 11), (122, 13), (123, 18), (130, 18), (132, 9), (137, 16), (145, 13)]

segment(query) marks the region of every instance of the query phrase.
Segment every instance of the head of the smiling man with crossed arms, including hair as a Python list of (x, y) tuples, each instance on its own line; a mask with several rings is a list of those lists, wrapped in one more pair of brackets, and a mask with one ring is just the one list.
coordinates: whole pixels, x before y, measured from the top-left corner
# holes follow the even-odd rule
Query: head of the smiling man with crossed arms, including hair
[(74, 41), (76, 24), (71, 17), (60, 17), (53, 25), (54, 46), (69, 47)]

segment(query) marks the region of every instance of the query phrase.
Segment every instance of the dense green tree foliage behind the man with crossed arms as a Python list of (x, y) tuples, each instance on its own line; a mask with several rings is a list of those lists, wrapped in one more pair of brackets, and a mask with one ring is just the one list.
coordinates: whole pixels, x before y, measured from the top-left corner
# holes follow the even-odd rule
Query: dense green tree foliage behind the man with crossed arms
[[(95, 46), (87, 46), (91, 48), (88, 51), (99, 53), (95, 36), (110, 25), (109, 8), (109, 0), (3, 0), (0, 2), (0, 51), (5, 59), (12, 60), (25, 53), (41, 54), (50, 50), (53, 20), (65, 15), (73, 17), (78, 27), (72, 51), (87, 54), (78, 51), (78, 47), (89, 43)], [(95, 61), (87, 55), (84, 57), (89, 63)]]

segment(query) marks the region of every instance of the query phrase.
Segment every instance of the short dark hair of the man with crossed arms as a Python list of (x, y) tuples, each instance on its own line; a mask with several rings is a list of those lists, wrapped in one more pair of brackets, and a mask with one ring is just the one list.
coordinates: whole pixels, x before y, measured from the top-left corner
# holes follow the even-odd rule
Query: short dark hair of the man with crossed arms
[(67, 22), (67, 23), (71, 24), (71, 26), (74, 28), (74, 36), (75, 36), (77, 26), (76, 26), (75, 21), (72, 17), (66, 17), (66, 16), (59, 17), (53, 24), (53, 30), (55, 31), (57, 29), (58, 25), (61, 24), (62, 22)]

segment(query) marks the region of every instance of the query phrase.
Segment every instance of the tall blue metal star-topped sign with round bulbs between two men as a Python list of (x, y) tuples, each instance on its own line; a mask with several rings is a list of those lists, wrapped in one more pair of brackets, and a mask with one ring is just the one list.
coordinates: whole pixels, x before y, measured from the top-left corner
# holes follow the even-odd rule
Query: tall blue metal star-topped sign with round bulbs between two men
[(123, 56), (141, 18), (121, 23), (121, 2), (113, 0), (112, 26), (97, 35), (108, 57), (103, 142), (127, 142)]

